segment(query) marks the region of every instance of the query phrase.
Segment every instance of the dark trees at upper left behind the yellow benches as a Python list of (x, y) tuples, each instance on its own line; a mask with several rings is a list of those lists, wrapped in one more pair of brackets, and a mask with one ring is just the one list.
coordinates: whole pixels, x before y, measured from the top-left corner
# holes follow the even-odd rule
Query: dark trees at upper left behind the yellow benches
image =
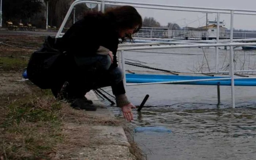
[[(48, 7), (48, 25), (60, 27), (67, 11), (74, 0), (3, 0), (3, 26), (7, 20), (11, 20), (14, 25), (19, 22), (26, 24), (28, 22), (34, 24), (37, 28), (45, 28), (46, 24), (46, 3)], [(78, 5), (76, 7), (76, 16), (80, 16), (81, 12), (87, 11), (86, 5)], [(68, 19), (68, 25), (73, 23), (73, 15)]]

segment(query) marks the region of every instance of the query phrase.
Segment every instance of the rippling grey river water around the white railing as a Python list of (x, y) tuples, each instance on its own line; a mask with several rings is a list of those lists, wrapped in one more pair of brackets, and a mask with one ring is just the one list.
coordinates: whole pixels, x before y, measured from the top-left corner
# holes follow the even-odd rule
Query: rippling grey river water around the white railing
[[(178, 72), (215, 71), (215, 50), (192, 48), (125, 52), (125, 58), (146, 62), (148, 66)], [(172, 53), (172, 54), (163, 54)], [(205, 57), (203, 61), (203, 53)], [(236, 69), (254, 69), (254, 51), (235, 50)], [(135, 62), (135, 61), (133, 61)], [(228, 69), (229, 51), (220, 50), (219, 68)], [(208, 63), (208, 65), (207, 65)], [(144, 63), (143, 63), (144, 64)], [(202, 65), (203, 64), (203, 65)], [(203, 67), (202, 67), (203, 66)], [(209, 67), (208, 67), (209, 66)], [(126, 66), (132, 71), (148, 70)], [(247, 72), (246, 72), (247, 73)], [(251, 72), (250, 72), (251, 73)], [(221, 86), (221, 104), (217, 105), (217, 87), (207, 85), (127, 86), (127, 96), (139, 106), (149, 98), (141, 112), (133, 110), (133, 127), (161, 126), (171, 133), (134, 133), (147, 160), (254, 160), (256, 157), (255, 87), (235, 86), (236, 108), (231, 108), (231, 88)], [(105, 91), (111, 93), (110, 88)], [(105, 101), (106, 104), (109, 102)], [(122, 117), (120, 108), (110, 107)]]

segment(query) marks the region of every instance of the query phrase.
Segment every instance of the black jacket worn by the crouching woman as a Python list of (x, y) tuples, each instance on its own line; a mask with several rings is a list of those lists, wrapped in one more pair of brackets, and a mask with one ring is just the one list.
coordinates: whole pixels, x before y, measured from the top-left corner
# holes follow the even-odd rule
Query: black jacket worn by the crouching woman
[[(113, 64), (110, 69), (117, 67), (118, 32), (109, 20), (102, 16), (88, 15), (79, 20), (61, 38), (61, 50), (79, 57), (90, 57), (96, 54), (99, 46), (113, 52)], [(113, 94), (124, 94), (123, 81), (112, 86)]]

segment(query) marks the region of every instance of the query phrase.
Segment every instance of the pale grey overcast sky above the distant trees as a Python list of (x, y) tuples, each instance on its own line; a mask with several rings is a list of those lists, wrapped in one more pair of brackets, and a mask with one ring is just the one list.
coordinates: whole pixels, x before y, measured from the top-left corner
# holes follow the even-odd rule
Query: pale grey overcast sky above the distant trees
[[(123, 0), (124, 1), (124, 0)], [(125, 0), (128, 1), (128, 0)], [(256, 0), (130, 0), (133, 2), (182, 5), (193, 7), (212, 7), (229, 9), (255, 10)], [(161, 26), (168, 22), (177, 23), (180, 27), (200, 27), (206, 25), (205, 12), (165, 11), (157, 9), (136, 8), (144, 18), (153, 17)], [(217, 19), (217, 14), (208, 14), (208, 20)], [(230, 14), (221, 14), (220, 20), (224, 20), (226, 28), (230, 29)], [(256, 30), (256, 15), (234, 15), (234, 28), (242, 30)]]

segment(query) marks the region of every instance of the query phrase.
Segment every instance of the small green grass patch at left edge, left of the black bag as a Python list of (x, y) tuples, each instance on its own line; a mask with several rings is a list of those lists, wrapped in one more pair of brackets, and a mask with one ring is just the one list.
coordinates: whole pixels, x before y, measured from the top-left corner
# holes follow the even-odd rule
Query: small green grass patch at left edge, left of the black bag
[(28, 58), (0, 57), (0, 68), (5, 70), (24, 69), (27, 63)]

